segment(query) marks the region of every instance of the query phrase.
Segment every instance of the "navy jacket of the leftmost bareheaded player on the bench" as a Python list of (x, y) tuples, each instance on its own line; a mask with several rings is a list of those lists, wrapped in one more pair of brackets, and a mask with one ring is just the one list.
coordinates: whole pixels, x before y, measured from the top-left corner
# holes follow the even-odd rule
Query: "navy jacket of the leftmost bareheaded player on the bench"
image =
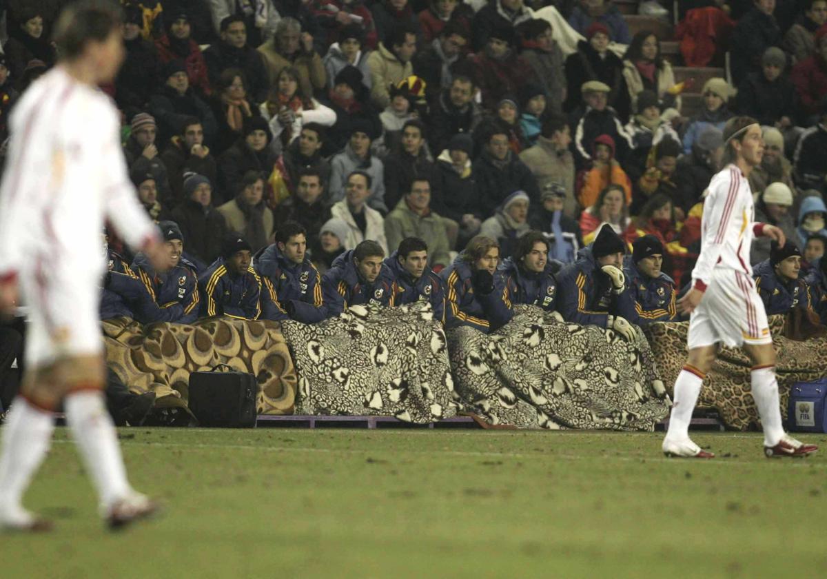
[(256, 256), (256, 271), (267, 278), (279, 296), (280, 304), (291, 312), (290, 318), (301, 323), (317, 323), (327, 317), (322, 295), (322, 275), (305, 256), (296, 264), (279, 251), (276, 244), (266, 247)]

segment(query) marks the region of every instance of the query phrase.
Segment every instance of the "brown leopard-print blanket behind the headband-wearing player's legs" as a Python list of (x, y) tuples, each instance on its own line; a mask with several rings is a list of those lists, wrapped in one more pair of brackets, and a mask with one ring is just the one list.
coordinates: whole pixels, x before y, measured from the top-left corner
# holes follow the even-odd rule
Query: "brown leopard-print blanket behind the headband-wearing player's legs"
[[(827, 376), (827, 338), (813, 337), (797, 342), (784, 337), (785, 318), (769, 318), (772, 344), (776, 349), (778, 391), (782, 417), (790, 389), (799, 381), (818, 380)], [(658, 370), (670, 395), (681, 368), (686, 363), (686, 335), (689, 323), (653, 323), (646, 333), (657, 360)], [(706, 376), (698, 398), (699, 409), (715, 409), (729, 428), (747, 430), (758, 427), (758, 410), (750, 394), (747, 356), (739, 349), (721, 348), (715, 365)]]

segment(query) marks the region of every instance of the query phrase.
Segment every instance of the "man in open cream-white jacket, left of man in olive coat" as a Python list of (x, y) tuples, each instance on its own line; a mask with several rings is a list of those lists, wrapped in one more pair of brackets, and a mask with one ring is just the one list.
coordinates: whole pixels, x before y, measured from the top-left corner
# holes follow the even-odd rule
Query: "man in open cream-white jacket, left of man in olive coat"
[(345, 181), (345, 199), (330, 208), (332, 217), (347, 223), (345, 249), (353, 249), (366, 239), (371, 239), (387, 249), (385, 220), (382, 214), (367, 204), (373, 178), (363, 170), (354, 170)]

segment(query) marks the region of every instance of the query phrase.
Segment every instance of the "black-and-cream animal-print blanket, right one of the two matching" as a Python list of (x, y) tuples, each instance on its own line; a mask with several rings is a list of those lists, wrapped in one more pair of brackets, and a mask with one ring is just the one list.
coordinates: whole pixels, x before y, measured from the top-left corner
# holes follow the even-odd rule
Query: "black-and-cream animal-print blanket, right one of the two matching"
[(495, 333), (448, 331), (457, 393), (490, 424), (519, 428), (653, 430), (667, 396), (638, 330), (564, 323), (536, 306), (515, 306)]

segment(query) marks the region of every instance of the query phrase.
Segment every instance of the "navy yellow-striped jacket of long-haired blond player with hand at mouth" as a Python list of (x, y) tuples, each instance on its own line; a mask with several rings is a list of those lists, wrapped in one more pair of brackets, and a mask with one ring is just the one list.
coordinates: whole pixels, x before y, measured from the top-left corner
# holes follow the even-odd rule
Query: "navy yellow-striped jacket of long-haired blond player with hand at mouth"
[(480, 332), (494, 332), (509, 323), (513, 312), (509, 289), (494, 276), (494, 291), (477, 294), (471, 285), (471, 264), (463, 259), (465, 251), (454, 259), (451, 266), (439, 272), (445, 283), (445, 327), (471, 326)]

